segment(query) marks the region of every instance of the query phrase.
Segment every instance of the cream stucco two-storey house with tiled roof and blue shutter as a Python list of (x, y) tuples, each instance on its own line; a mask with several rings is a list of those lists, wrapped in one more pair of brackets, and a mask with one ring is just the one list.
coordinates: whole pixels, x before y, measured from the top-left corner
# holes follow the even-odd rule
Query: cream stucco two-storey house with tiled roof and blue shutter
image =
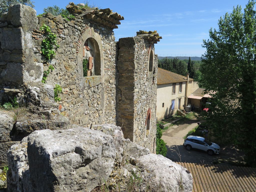
[(157, 74), (157, 120), (174, 115), (184, 109), (188, 96), (198, 88), (194, 79), (158, 68)]

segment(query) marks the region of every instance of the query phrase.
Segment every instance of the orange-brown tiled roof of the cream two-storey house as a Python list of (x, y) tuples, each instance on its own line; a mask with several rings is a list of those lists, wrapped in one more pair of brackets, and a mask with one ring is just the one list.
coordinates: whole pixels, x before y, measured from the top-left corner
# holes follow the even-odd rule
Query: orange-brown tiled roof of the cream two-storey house
[[(189, 81), (192, 81), (192, 80), (194, 79), (189, 78)], [(178, 83), (178, 82), (184, 82), (184, 81), (187, 81), (187, 77), (158, 67), (158, 72), (157, 72), (158, 85)]]

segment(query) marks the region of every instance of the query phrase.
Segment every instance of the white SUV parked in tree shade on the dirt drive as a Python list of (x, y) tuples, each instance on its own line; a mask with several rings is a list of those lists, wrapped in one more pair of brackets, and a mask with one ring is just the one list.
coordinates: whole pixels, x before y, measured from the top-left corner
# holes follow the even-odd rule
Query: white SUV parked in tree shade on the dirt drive
[(219, 154), (220, 146), (216, 143), (212, 143), (205, 139), (204, 137), (198, 136), (188, 136), (183, 145), (187, 150), (191, 150), (192, 148), (200, 149), (206, 151), (208, 155)]

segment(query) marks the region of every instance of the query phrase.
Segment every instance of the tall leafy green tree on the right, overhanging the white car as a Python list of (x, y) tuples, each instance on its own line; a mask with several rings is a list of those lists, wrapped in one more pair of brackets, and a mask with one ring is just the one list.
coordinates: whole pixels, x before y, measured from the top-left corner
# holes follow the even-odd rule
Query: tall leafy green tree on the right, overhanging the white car
[(245, 161), (256, 167), (256, 11), (250, 0), (221, 17), (219, 29), (203, 40), (200, 86), (212, 94), (210, 110), (201, 113), (217, 138), (239, 145)]

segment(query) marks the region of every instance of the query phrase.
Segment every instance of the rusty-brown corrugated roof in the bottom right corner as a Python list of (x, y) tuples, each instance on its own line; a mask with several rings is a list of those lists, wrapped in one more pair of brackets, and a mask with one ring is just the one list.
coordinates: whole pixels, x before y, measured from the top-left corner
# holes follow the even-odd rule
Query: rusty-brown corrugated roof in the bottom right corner
[(193, 192), (255, 192), (256, 168), (176, 162), (193, 176)]

